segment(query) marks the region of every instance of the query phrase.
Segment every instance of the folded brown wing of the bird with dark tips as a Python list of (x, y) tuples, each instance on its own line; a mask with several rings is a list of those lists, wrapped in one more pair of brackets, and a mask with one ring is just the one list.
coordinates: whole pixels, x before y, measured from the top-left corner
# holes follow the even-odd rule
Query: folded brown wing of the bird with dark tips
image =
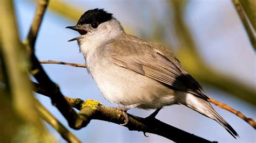
[(108, 55), (116, 65), (145, 75), (170, 88), (208, 99), (201, 85), (167, 49), (130, 35), (128, 39), (131, 40), (126, 39), (123, 37), (113, 40), (106, 47)]

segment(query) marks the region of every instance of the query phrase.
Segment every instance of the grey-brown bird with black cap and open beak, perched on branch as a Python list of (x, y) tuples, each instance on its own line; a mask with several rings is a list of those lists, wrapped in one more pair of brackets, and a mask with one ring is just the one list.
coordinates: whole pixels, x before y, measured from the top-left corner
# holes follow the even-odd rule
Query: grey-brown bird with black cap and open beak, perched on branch
[(167, 48), (127, 34), (112, 13), (87, 10), (75, 26), (66, 28), (79, 32), (79, 37), (69, 41), (77, 41), (87, 72), (107, 101), (123, 105), (124, 111), (156, 109), (149, 117), (156, 117), (164, 106), (185, 105), (239, 137)]

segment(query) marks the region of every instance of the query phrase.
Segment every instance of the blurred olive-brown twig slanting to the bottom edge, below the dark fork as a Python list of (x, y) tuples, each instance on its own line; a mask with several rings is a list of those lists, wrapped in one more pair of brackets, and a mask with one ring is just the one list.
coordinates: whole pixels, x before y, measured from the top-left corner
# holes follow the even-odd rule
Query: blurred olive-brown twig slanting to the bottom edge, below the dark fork
[(55, 130), (62, 135), (62, 137), (68, 142), (81, 142), (74, 134), (72, 134), (65, 126), (63, 126), (52, 114), (38, 101), (36, 100), (36, 106), (39, 116), (43, 118), (48, 124), (50, 124)]

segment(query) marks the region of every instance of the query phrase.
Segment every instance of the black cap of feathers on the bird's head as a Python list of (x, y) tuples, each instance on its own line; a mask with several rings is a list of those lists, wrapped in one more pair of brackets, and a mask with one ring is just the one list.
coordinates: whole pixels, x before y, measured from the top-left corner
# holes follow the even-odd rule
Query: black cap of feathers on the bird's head
[(77, 25), (97, 23), (97, 25), (112, 19), (112, 13), (103, 9), (87, 10), (78, 20)]

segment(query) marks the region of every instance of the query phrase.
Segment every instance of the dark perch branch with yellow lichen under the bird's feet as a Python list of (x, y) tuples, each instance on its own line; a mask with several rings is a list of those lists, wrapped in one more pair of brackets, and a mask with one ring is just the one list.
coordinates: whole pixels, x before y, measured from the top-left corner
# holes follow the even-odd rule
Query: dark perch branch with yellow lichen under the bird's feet
[[(48, 97), (50, 96), (40, 84), (34, 83), (34, 85), (35, 92)], [(73, 108), (80, 110), (79, 115), (82, 115), (87, 120), (87, 124), (91, 119), (109, 121), (119, 125), (123, 124), (125, 120), (122, 111), (103, 106), (103, 104), (99, 103), (98, 101), (88, 99), (86, 102), (84, 102), (82, 99), (70, 98), (68, 96), (65, 96), (65, 99)], [(127, 115), (129, 117), (129, 123), (126, 124), (125, 127), (129, 128), (131, 131), (153, 133), (175, 142), (211, 142), (194, 134), (180, 130), (179, 128), (163, 123), (158, 119), (141, 118), (130, 115), (129, 113), (127, 113)]]

